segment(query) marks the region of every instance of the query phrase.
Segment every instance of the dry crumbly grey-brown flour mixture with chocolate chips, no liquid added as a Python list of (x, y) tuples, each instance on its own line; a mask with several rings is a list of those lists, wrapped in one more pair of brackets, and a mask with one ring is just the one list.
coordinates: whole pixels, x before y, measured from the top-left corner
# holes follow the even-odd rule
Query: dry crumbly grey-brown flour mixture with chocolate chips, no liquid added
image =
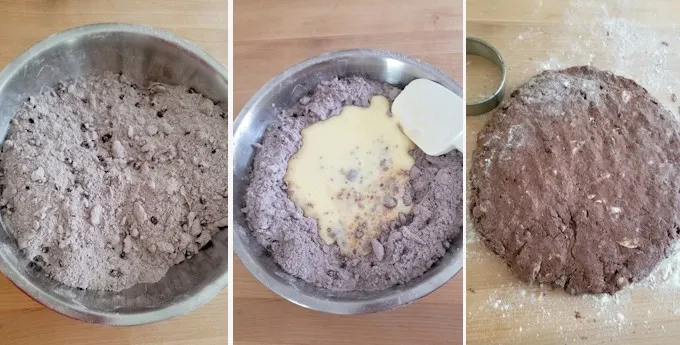
[(227, 119), (193, 89), (106, 73), (31, 97), (0, 155), (19, 247), (67, 285), (160, 280), (227, 226)]

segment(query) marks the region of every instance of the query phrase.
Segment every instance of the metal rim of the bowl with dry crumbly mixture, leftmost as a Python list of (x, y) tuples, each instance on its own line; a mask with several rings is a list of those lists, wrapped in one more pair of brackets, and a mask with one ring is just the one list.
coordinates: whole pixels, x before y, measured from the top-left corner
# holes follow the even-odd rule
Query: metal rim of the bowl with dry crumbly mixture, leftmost
[[(42, 41), (31, 46), (24, 53), (12, 60), (0, 72), (0, 91), (2, 91), (9, 80), (17, 73), (23, 66), (29, 63), (33, 58), (41, 53), (51, 49), (52, 47), (61, 44), (65, 41), (83, 38), (92, 34), (110, 34), (110, 33), (129, 33), (136, 35), (150, 36), (155, 39), (167, 41), (187, 50), (189, 53), (197, 56), (201, 61), (207, 63), (212, 69), (219, 72), (220, 76), (228, 81), (228, 73), (226, 68), (222, 66), (215, 58), (208, 55), (203, 49), (199, 48), (194, 43), (175, 36), (170, 32), (157, 29), (150, 26), (126, 23), (99, 23), (88, 24), (83, 26), (67, 29), (55, 34), (52, 34)], [(166, 320), (175, 316), (188, 313), (208, 301), (215, 298), (228, 285), (228, 270), (216, 276), (215, 280), (207, 284), (201, 290), (180, 302), (173, 303), (152, 311), (140, 311), (120, 314), (116, 312), (102, 312), (93, 311), (85, 308), (83, 305), (74, 302), (67, 302), (53, 297), (50, 293), (43, 291), (40, 287), (32, 284), (21, 272), (15, 267), (6, 263), (5, 254), (0, 251), (0, 272), (2, 272), (9, 280), (21, 291), (33, 298), (40, 304), (68, 317), (85, 321), (88, 323), (113, 325), (113, 326), (131, 326), (141, 325), (161, 320)]]

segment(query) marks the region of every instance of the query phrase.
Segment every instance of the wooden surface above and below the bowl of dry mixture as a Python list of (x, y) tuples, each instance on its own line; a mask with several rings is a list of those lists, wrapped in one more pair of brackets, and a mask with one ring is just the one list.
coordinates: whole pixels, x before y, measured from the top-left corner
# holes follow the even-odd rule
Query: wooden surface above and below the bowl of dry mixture
[[(227, 64), (226, 0), (0, 0), (0, 66), (47, 35), (98, 22), (156, 26)], [(227, 291), (185, 316), (114, 328), (59, 315), (0, 275), (0, 344), (226, 344)]]

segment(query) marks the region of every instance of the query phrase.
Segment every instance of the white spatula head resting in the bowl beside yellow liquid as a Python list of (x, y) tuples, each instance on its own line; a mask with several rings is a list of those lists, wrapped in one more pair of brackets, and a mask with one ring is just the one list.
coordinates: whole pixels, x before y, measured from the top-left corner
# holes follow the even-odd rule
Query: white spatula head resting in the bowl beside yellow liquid
[(392, 103), (404, 134), (430, 156), (465, 148), (463, 98), (428, 79), (410, 82)]

